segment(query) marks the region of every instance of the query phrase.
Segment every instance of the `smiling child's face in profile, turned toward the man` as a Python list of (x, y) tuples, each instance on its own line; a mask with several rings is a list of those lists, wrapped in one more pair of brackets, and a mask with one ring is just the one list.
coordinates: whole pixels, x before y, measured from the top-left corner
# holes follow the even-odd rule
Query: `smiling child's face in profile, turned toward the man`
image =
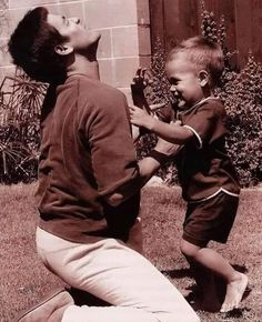
[(184, 53), (177, 53), (168, 61), (165, 71), (171, 83), (170, 91), (178, 101), (179, 109), (190, 108), (203, 99), (199, 72)]

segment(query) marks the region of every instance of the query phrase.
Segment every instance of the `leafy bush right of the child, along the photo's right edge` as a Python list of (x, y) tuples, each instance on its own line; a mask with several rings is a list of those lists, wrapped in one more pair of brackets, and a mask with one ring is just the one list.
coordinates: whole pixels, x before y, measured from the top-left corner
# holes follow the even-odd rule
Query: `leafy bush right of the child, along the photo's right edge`
[(214, 16), (202, 8), (202, 34), (218, 41), (224, 53), (225, 70), (218, 90), (229, 114), (228, 150), (243, 187), (262, 181), (262, 64), (250, 52), (246, 66), (236, 71), (231, 66), (235, 52), (226, 48), (224, 18), (216, 27)]

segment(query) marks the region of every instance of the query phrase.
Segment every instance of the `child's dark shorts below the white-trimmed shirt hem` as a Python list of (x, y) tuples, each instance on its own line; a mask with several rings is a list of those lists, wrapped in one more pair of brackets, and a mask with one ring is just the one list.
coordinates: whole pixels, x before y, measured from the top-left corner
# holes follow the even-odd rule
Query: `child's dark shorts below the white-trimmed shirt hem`
[(183, 239), (204, 246), (213, 240), (225, 243), (238, 211), (239, 198), (221, 191), (202, 202), (189, 203), (183, 223)]

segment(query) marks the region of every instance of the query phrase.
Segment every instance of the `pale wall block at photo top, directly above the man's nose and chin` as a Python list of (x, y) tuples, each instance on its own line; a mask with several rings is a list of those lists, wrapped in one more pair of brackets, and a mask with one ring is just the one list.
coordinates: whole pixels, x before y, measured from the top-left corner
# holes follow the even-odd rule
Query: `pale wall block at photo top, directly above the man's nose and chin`
[(90, 28), (129, 26), (138, 22), (137, 0), (89, 0), (84, 2)]

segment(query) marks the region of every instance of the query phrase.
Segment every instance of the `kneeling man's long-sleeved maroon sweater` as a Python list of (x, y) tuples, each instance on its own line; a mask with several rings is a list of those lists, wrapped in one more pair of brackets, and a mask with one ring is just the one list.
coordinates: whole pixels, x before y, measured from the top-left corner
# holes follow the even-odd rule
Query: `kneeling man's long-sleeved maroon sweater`
[[(139, 212), (139, 180), (124, 94), (84, 76), (68, 78), (41, 122), (40, 228), (75, 242), (127, 240)], [(125, 199), (117, 208), (104, 200), (114, 192)]]

